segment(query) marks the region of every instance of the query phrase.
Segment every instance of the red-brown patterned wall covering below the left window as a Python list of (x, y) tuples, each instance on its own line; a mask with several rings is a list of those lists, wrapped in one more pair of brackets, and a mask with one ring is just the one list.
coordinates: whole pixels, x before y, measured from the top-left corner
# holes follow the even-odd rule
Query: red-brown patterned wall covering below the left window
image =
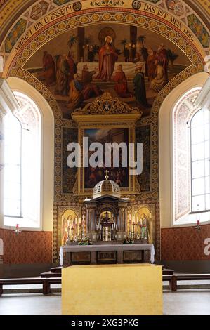
[(29, 264), (52, 262), (52, 232), (21, 232), (0, 229), (4, 242), (4, 263)]

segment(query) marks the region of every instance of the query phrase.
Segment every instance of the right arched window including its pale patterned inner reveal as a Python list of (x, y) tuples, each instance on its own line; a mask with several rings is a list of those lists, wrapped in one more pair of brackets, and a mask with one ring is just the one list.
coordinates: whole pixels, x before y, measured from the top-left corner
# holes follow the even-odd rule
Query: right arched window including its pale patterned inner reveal
[(200, 90), (185, 93), (173, 109), (174, 224), (192, 223), (193, 213), (210, 211), (210, 113), (194, 105)]

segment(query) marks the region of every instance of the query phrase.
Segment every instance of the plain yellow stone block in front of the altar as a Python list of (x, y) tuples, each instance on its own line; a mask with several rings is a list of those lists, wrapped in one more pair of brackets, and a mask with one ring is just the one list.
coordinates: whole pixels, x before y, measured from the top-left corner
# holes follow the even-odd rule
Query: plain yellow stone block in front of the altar
[(63, 315), (162, 315), (162, 266), (82, 265), (62, 270)]

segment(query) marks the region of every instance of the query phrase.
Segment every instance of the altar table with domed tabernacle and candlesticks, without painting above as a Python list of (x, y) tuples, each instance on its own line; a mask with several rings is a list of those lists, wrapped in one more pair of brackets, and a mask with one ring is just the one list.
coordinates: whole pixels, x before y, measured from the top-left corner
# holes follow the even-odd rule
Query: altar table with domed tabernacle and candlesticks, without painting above
[(105, 180), (93, 188), (93, 197), (85, 199), (86, 232), (81, 219), (77, 226), (79, 235), (73, 234), (73, 227), (70, 234), (70, 226), (67, 227), (66, 245), (60, 247), (60, 265), (145, 263), (145, 260), (154, 263), (149, 223), (146, 218), (132, 223), (127, 214), (129, 203), (129, 198), (121, 197), (119, 185), (109, 180), (105, 171)]

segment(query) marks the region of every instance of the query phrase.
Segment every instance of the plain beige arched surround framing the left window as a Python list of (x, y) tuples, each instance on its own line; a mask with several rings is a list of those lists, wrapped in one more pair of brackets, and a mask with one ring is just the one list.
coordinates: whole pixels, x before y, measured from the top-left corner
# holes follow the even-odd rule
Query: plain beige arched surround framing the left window
[(30, 98), (41, 114), (41, 224), (38, 230), (53, 230), (53, 164), (54, 164), (54, 118), (51, 107), (44, 97), (26, 81), (9, 77), (12, 91)]

